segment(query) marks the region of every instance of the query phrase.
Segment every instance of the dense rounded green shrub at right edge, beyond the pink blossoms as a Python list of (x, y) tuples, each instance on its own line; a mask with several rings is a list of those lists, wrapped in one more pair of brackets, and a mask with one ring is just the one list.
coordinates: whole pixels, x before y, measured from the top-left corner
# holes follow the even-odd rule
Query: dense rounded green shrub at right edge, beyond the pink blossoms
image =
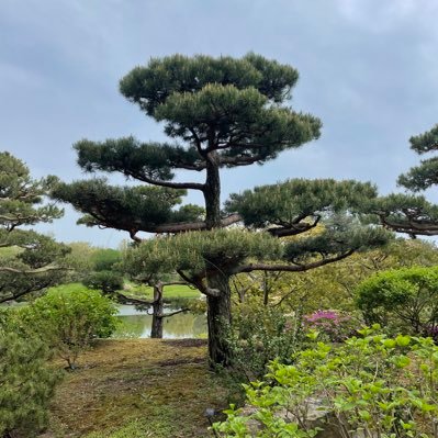
[(428, 336), (438, 324), (438, 268), (379, 272), (359, 284), (357, 305), (367, 324)]

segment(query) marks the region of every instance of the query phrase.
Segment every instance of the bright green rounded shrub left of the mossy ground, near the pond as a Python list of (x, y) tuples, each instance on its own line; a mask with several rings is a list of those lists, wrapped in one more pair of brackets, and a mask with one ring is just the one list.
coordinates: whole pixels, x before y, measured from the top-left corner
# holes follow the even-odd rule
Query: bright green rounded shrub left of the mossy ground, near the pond
[(46, 340), (72, 369), (79, 352), (93, 339), (109, 337), (115, 330), (116, 312), (113, 302), (98, 291), (55, 290), (19, 308), (14, 323), (21, 333), (35, 333)]

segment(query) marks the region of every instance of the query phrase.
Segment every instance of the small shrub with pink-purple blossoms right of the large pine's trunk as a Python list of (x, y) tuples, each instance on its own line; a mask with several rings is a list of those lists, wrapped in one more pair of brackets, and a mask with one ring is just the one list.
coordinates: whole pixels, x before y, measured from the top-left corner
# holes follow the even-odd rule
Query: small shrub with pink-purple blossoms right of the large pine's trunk
[(333, 342), (340, 342), (356, 333), (357, 324), (350, 315), (338, 311), (316, 311), (304, 315), (304, 327), (316, 330)]

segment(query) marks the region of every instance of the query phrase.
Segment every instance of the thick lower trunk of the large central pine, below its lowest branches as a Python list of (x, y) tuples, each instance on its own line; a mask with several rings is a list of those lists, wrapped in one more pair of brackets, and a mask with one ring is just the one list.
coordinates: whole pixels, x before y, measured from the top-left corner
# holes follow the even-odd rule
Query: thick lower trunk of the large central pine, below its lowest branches
[(209, 356), (211, 366), (229, 366), (231, 352), (227, 327), (232, 322), (229, 277), (222, 271), (207, 276), (209, 287), (221, 291), (218, 296), (207, 296)]

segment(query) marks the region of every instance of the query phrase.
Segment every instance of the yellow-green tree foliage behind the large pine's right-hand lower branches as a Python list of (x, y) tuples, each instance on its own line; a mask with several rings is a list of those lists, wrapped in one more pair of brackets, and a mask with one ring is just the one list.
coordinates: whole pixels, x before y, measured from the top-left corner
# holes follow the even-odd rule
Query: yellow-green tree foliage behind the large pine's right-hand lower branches
[[(306, 272), (251, 272), (234, 283), (236, 301), (249, 306), (282, 307), (285, 313), (317, 310), (355, 312), (356, 288), (389, 269), (438, 265), (438, 249), (422, 239), (398, 238), (390, 245), (357, 252), (336, 263)], [(237, 303), (236, 303), (237, 304)]]

